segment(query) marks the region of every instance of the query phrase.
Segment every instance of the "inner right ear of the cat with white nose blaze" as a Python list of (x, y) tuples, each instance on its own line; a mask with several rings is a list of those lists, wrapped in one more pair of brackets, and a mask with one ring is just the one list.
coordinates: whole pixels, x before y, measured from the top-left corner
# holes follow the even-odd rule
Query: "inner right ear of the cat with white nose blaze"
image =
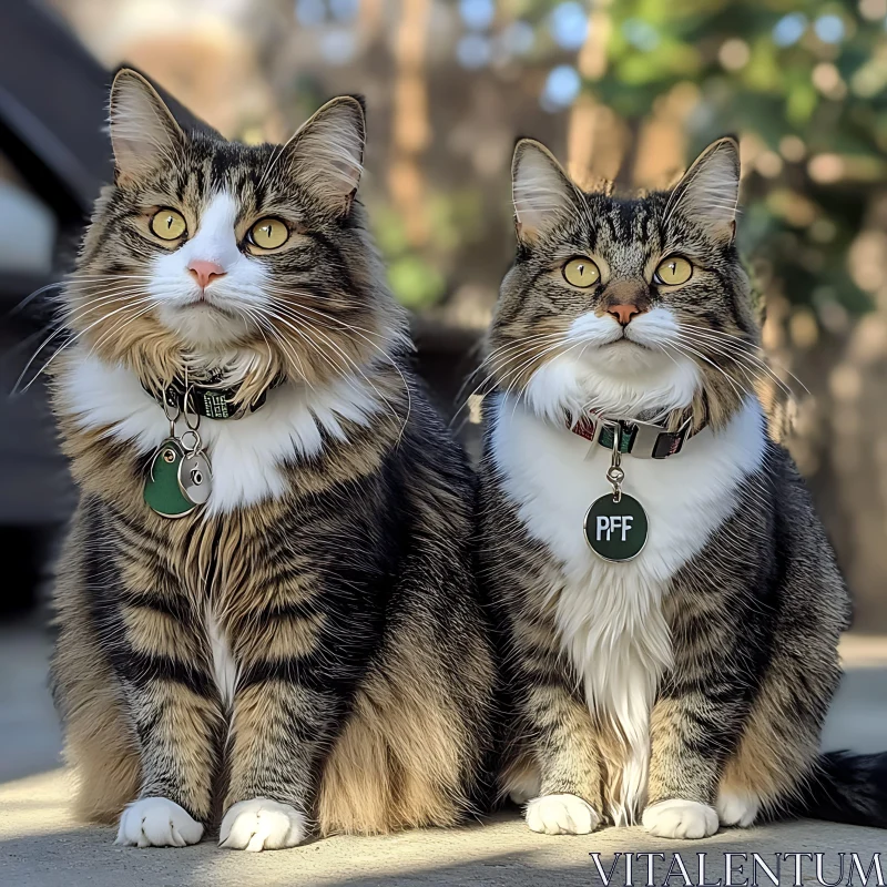
[(365, 143), (364, 105), (353, 95), (327, 102), (287, 143), (290, 173), (322, 212), (343, 216), (350, 211)]

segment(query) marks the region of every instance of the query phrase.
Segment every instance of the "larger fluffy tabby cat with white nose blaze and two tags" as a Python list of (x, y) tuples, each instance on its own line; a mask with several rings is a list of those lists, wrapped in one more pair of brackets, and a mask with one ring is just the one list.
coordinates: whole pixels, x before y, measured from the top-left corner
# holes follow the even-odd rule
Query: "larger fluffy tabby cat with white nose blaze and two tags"
[[(221, 818), (249, 850), (315, 823), (457, 823), (485, 784), (492, 680), (473, 482), (355, 196), (363, 108), (246, 146), (185, 131), (123, 70), (110, 129), (115, 181), (53, 364), (81, 488), (52, 664), (79, 813), (140, 847)], [(212, 495), (170, 520), (143, 483), (183, 379), (243, 415), (203, 418)]]

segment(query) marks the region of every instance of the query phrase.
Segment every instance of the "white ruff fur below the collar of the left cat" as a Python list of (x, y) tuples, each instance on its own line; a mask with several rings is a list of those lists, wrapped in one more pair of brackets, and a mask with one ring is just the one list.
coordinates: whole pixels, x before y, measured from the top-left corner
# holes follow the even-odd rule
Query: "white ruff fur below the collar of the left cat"
[[(60, 384), (81, 428), (104, 428), (141, 453), (154, 450), (170, 432), (163, 408), (123, 367), (78, 355)], [(205, 513), (227, 513), (282, 495), (284, 461), (319, 452), (322, 430), (345, 440), (341, 419), (366, 425), (378, 409), (367, 381), (341, 379), (325, 389), (283, 385), (268, 391), (262, 409), (242, 419), (202, 419), (200, 434), (213, 467)]]

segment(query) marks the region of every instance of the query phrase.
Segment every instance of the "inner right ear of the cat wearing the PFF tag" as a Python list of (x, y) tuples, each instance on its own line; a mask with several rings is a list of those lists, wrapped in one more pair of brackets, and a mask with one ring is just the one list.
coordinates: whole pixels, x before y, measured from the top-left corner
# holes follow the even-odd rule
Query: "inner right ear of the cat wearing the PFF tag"
[(730, 243), (736, 234), (740, 202), (740, 145), (732, 136), (712, 142), (669, 198), (666, 217), (680, 212), (703, 225), (712, 237)]

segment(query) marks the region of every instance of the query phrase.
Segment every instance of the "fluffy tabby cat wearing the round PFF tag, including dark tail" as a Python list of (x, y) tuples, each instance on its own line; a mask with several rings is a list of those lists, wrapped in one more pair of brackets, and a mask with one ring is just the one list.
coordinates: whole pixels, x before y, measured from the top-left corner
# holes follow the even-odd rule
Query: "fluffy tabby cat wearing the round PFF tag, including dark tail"
[[(753, 394), (735, 141), (634, 200), (583, 193), (530, 140), (512, 172), (481, 517), (513, 703), (503, 791), (549, 834), (640, 819), (701, 838), (787, 814), (887, 826), (887, 756), (818, 752), (850, 603)], [(612, 495), (590, 420), (622, 420), (626, 450), (621, 457), (649, 516), (634, 560), (587, 543), (587, 509)], [(639, 458), (666, 431), (680, 451), (666, 435), (664, 458)]]

